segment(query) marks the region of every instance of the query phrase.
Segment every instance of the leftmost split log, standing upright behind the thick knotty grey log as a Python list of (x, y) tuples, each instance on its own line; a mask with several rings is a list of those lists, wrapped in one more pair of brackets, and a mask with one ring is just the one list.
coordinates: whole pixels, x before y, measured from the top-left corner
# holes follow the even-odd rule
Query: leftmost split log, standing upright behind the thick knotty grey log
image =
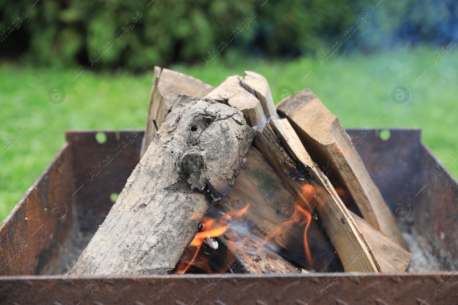
[(202, 98), (213, 89), (213, 86), (192, 76), (165, 68), (161, 72), (161, 68), (155, 66), (140, 159), (142, 159), (169, 112), (180, 101), (180, 95)]

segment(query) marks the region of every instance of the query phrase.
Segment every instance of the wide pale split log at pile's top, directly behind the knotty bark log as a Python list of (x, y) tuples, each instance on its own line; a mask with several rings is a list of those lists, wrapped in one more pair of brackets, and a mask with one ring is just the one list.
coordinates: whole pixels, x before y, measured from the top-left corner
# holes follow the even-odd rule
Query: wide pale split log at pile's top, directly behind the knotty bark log
[(261, 102), (256, 96), (242, 87), (242, 80), (242, 77), (239, 75), (229, 76), (205, 97), (239, 109), (243, 112), (246, 123), (249, 126), (257, 126), (258, 129), (262, 130), (267, 122), (267, 116), (262, 110)]

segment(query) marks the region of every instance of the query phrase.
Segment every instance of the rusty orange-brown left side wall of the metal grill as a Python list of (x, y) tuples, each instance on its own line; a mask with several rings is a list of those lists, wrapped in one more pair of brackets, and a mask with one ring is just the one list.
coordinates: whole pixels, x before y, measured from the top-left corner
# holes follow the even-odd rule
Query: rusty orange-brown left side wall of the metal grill
[(68, 144), (0, 225), (0, 275), (54, 269), (72, 226), (75, 192)]

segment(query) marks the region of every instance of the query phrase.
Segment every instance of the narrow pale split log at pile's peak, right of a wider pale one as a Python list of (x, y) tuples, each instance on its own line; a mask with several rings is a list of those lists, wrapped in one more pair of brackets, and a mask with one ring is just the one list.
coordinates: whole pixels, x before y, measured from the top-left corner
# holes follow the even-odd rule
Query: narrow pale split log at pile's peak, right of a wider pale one
[(241, 85), (261, 102), (267, 121), (277, 116), (272, 93), (264, 76), (253, 71), (245, 71), (245, 79), (242, 80)]

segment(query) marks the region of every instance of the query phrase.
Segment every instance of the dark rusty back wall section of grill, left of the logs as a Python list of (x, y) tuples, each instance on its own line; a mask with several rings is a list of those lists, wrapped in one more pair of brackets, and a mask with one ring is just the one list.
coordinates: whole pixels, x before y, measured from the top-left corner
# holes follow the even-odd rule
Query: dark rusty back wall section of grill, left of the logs
[[(138, 129), (140, 131), (140, 129)], [(108, 214), (110, 194), (120, 193), (139, 161), (143, 132), (98, 130), (106, 134), (98, 143), (92, 131), (67, 131), (73, 152), (76, 210), (82, 234), (92, 236)]]

